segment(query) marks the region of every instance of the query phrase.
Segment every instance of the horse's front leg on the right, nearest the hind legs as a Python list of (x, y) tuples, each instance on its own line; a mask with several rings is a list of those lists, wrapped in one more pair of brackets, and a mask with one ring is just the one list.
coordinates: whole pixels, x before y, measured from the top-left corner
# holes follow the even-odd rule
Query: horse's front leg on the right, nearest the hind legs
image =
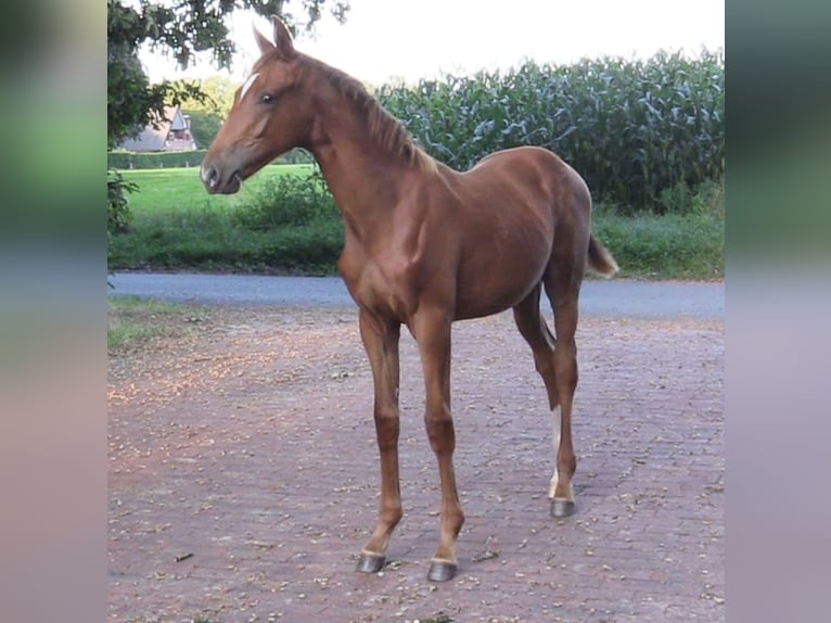
[(456, 575), (459, 567), (456, 542), (464, 523), (453, 470), (456, 432), (450, 414), (450, 318), (440, 314), (422, 315), (412, 328), (424, 371), (424, 424), (438, 461), (442, 482), (442, 532), (427, 578), (446, 582)]

